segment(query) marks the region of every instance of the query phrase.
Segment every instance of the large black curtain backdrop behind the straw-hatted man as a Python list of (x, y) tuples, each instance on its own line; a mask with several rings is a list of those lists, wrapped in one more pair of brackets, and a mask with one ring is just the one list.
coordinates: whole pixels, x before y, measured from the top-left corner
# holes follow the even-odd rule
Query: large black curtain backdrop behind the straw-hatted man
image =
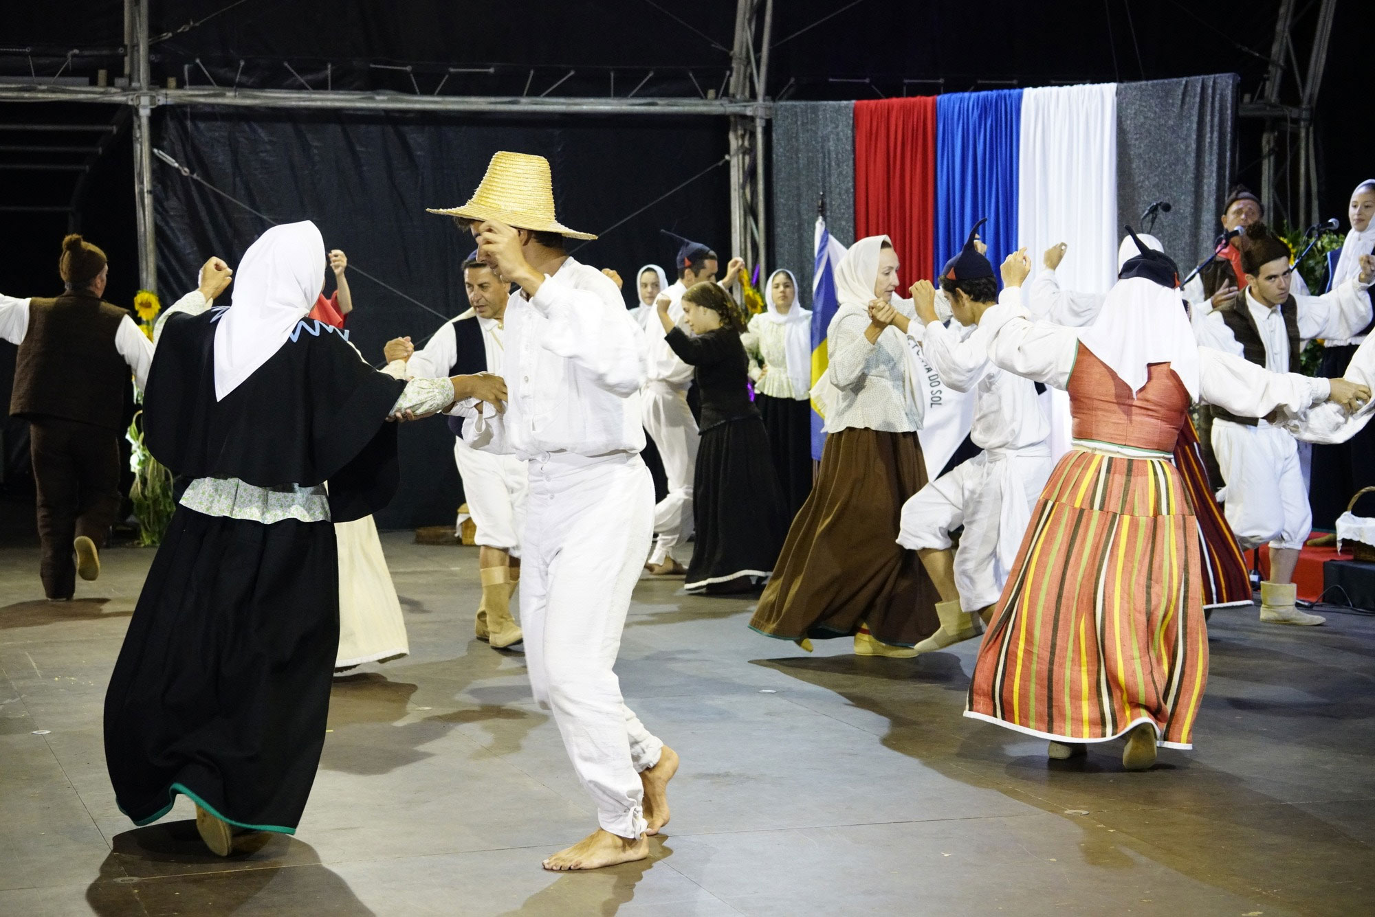
[[(315, 221), (324, 243), (342, 248), (351, 265), (434, 310), (351, 270), (351, 340), (374, 365), (390, 338), (421, 342), (468, 309), (461, 265), (472, 239), (425, 207), (468, 200), (492, 152), (547, 156), (560, 220), (595, 233), (726, 154), (725, 119), (705, 117), (531, 121), (205, 107), (160, 108), (155, 118), (155, 144), (183, 166), (276, 222)], [(170, 305), (194, 287), (206, 258), (236, 264), (268, 224), (166, 163), (155, 162), (154, 170), (158, 291)], [(727, 178), (725, 166), (712, 169), (602, 239), (569, 248), (627, 280), (646, 262), (670, 264), (660, 228), (725, 253)], [(221, 302), (232, 302), (232, 288)], [(461, 501), (448, 428), (440, 419), (404, 426), (402, 489), (378, 526), (451, 523)]]

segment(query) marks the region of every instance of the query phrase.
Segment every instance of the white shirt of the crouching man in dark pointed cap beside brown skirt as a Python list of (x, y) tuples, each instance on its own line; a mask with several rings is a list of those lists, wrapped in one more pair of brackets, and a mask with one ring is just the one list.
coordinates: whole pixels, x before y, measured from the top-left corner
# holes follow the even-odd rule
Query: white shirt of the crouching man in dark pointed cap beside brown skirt
[[(917, 323), (909, 325), (909, 335)], [(962, 334), (961, 334), (962, 332)], [(943, 382), (956, 391), (974, 391), (969, 437), (980, 449), (1026, 449), (1045, 442), (1050, 423), (1041, 409), (1035, 383), (997, 367), (989, 358), (993, 334), (983, 325), (946, 328), (932, 321), (921, 331), (921, 347)]]

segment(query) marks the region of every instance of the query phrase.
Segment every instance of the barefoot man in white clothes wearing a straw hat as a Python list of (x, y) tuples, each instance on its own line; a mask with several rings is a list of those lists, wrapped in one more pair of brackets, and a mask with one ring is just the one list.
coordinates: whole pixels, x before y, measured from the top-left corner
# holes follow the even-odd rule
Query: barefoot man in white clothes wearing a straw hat
[(644, 859), (645, 835), (668, 822), (678, 755), (626, 707), (612, 666), (653, 527), (654, 493), (639, 458), (645, 338), (620, 292), (568, 257), (564, 239), (595, 239), (554, 218), (549, 161), (498, 152), (473, 199), (450, 214), (477, 258), (518, 286), (506, 306), (503, 415), (462, 402), (463, 437), (528, 463), (521, 535), (521, 618), (535, 699), (554, 722), (600, 828), (544, 861), (597, 869)]

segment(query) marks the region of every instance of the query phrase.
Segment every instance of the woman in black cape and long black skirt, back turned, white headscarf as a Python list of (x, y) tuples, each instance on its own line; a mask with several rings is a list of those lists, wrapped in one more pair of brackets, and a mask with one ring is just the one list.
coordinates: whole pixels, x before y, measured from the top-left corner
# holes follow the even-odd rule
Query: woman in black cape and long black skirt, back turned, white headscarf
[(110, 677), (106, 766), (136, 825), (182, 793), (221, 857), (234, 829), (290, 835), (305, 809), (338, 649), (331, 523), (396, 490), (388, 417), (505, 397), (496, 376), (374, 371), (307, 317), (323, 276), (314, 224), (268, 229), (234, 305), (170, 314), (148, 372), (148, 449), (191, 483)]

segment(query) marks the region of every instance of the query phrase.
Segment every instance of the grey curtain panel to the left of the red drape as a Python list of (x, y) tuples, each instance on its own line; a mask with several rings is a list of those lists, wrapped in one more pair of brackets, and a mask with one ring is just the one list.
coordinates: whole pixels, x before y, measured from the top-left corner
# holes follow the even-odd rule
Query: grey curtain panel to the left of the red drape
[(799, 301), (811, 306), (817, 198), (826, 194), (826, 227), (855, 240), (855, 128), (852, 102), (780, 102), (773, 117), (773, 237), (769, 270), (798, 276)]

